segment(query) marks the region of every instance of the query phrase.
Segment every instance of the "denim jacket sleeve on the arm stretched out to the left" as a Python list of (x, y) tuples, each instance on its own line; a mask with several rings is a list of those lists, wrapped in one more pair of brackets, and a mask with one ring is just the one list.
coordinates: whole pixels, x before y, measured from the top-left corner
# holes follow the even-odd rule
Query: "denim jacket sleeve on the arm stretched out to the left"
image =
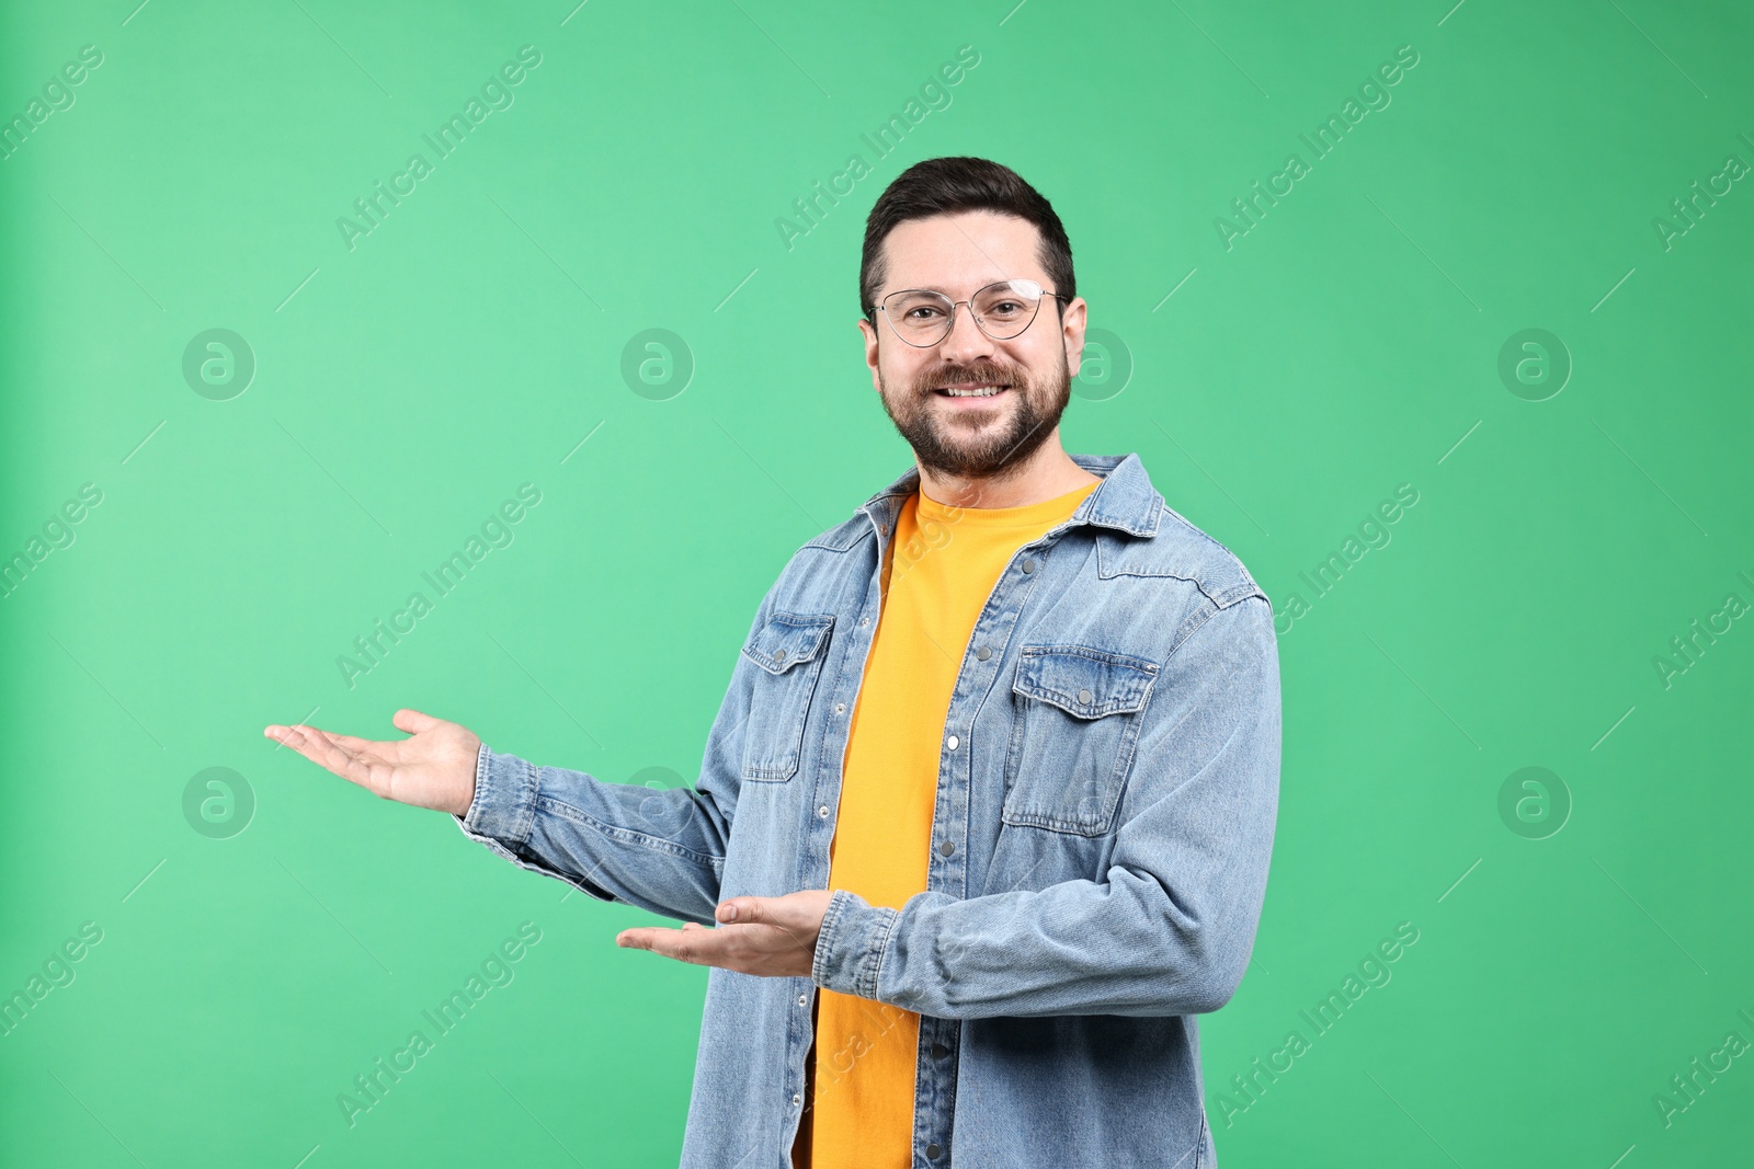
[[(770, 589), (756, 608), (751, 640), (772, 603)], [(475, 797), (467, 815), (453, 818), (465, 836), (517, 868), (560, 878), (600, 901), (710, 925), (737, 811), (754, 670), (745, 654), (737, 655), (695, 787), (605, 783), (482, 743)]]

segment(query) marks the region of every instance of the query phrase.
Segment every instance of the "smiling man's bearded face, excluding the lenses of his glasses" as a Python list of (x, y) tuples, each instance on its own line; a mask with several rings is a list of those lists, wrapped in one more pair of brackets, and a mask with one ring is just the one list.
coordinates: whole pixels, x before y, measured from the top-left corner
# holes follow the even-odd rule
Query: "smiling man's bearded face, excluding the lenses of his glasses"
[[(924, 287), (966, 301), (998, 280), (1035, 280), (1049, 293), (1037, 258), (1040, 235), (1026, 219), (959, 212), (912, 219), (884, 240), (884, 282), (877, 301), (896, 289)], [(930, 349), (902, 342), (879, 310), (859, 321), (872, 387), (921, 466), (963, 478), (1000, 477), (1021, 466), (1059, 431), (1084, 349), (1084, 300), (1040, 310), (1017, 337), (996, 342), (958, 303), (949, 337)], [(995, 329), (1005, 331), (1005, 329)], [(947, 387), (1002, 386), (991, 398), (952, 398)]]

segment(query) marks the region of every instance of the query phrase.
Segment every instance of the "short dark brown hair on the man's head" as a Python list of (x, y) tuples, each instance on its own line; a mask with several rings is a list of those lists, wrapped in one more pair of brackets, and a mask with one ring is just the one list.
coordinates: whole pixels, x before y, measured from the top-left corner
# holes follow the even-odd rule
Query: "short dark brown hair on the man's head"
[(877, 319), (877, 287), (884, 282), (882, 244), (896, 224), (959, 210), (991, 210), (1033, 223), (1042, 237), (1037, 259), (1054, 282), (1051, 291), (1065, 298), (1054, 301), (1065, 312), (1079, 289), (1072, 275), (1072, 242), (1066, 240), (1052, 203), (1010, 166), (958, 156), (914, 163), (877, 196), (877, 205), (865, 219), (865, 252), (859, 261), (859, 310), (868, 319)]

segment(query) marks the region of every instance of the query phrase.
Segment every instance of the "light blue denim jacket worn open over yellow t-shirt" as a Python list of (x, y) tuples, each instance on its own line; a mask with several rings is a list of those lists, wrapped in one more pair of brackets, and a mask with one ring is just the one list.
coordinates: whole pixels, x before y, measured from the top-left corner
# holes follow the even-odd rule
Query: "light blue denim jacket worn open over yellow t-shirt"
[[(1266, 887), (1272, 605), (1137, 454), (1072, 459), (1103, 482), (1017, 549), (965, 647), (926, 892), (896, 910), (835, 890), (809, 978), (709, 971), (684, 1169), (789, 1167), (816, 987), (921, 1015), (916, 1169), (1217, 1164), (1194, 1017), (1242, 980)], [(917, 484), (909, 468), (793, 554), (695, 787), (482, 745), (463, 832), (703, 925), (724, 897), (826, 889), (882, 550)]]

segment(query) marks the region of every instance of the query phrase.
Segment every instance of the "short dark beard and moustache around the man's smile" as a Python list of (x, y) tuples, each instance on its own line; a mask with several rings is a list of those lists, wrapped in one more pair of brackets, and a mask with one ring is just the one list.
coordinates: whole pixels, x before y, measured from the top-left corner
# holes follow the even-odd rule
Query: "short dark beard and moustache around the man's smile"
[[(1040, 379), (1014, 365), (975, 361), (923, 373), (902, 391), (891, 391), (879, 370), (882, 408), (926, 470), (959, 478), (1005, 478), (1021, 470), (1059, 424), (1072, 400), (1072, 373), (1065, 352), (1059, 368)], [(947, 410), (935, 391), (952, 382), (1007, 386), (988, 408)], [(996, 421), (995, 421), (996, 419)]]

